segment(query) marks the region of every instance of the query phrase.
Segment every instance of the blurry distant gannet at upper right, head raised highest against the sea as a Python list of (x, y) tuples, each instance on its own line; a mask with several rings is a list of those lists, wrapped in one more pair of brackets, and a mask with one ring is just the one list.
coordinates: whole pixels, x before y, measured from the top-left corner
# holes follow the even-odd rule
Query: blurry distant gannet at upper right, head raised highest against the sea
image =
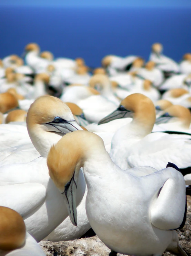
[(157, 64), (157, 68), (164, 72), (165, 77), (178, 73), (180, 71), (179, 65), (169, 57), (163, 55), (162, 51), (162, 44), (154, 43), (149, 59)]

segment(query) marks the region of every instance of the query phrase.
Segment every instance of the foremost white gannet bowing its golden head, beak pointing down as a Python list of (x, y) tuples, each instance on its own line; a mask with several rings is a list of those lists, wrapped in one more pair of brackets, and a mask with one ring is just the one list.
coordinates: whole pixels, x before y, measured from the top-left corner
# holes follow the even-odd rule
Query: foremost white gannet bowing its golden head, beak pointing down
[[(66, 193), (66, 184), (83, 167), (88, 220), (112, 250), (110, 255), (161, 255), (166, 249), (188, 255), (174, 230), (184, 226), (186, 213), (185, 181), (179, 171), (170, 167), (142, 177), (128, 174), (112, 162), (102, 139), (87, 131), (67, 134), (50, 152), (61, 156), (57, 168), (52, 164), (53, 156), (47, 158), (50, 176), (60, 193)], [(61, 178), (63, 173), (68, 174), (67, 179)], [(76, 225), (74, 204), (70, 198), (69, 215)]]

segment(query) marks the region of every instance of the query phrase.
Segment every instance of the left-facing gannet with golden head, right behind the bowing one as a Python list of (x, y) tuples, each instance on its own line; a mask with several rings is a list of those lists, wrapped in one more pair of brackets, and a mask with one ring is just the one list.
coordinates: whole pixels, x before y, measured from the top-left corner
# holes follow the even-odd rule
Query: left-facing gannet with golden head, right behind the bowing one
[(142, 94), (132, 94), (121, 101), (109, 116), (99, 124), (118, 118), (133, 117), (129, 124), (115, 132), (111, 141), (111, 159), (125, 170), (141, 165), (160, 170), (170, 161), (180, 167), (185, 175), (190, 172), (191, 135), (152, 132), (155, 108), (152, 101)]

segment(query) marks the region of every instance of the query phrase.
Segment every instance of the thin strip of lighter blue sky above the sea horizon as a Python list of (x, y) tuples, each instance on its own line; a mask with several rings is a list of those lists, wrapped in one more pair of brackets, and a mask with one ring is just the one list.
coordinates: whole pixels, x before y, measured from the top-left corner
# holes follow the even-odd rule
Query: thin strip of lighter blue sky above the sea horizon
[(191, 0), (0, 0), (0, 6), (191, 7)]

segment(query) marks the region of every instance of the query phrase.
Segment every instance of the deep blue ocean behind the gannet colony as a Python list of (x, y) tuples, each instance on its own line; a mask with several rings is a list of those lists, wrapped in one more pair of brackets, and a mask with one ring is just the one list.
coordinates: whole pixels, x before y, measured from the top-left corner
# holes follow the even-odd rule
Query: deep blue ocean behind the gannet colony
[(180, 61), (191, 52), (191, 9), (0, 7), (0, 58), (21, 55), (30, 42), (90, 67), (107, 54), (147, 60), (154, 42)]

